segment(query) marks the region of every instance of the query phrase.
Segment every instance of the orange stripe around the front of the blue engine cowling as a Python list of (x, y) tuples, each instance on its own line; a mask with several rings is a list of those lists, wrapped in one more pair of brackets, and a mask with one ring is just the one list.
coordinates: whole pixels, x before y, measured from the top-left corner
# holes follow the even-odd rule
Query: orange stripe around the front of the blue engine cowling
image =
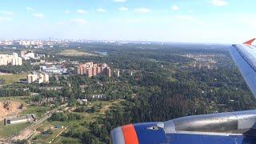
[(134, 129), (134, 125), (122, 126), (122, 134), (126, 144), (138, 144), (138, 137)]

